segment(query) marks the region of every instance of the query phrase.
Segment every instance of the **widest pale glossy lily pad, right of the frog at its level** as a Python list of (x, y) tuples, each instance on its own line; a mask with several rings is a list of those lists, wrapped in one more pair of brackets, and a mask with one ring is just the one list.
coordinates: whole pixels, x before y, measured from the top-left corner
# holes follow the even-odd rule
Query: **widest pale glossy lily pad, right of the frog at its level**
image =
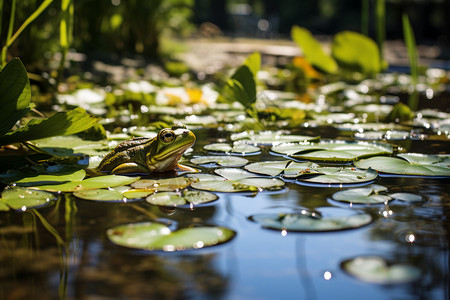
[(285, 143), (272, 147), (275, 153), (313, 161), (353, 161), (358, 158), (392, 154), (389, 144), (321, 142), (312, 144)]

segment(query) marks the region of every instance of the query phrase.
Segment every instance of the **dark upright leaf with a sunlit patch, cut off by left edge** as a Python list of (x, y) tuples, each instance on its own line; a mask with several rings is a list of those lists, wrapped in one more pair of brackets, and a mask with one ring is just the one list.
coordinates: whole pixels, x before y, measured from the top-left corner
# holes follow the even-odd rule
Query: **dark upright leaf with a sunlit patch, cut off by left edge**
[(30, 81), (20, 59), (11, 60), (0, 72), (0, 95), (0, 135), (3, 135), (30, 111)]

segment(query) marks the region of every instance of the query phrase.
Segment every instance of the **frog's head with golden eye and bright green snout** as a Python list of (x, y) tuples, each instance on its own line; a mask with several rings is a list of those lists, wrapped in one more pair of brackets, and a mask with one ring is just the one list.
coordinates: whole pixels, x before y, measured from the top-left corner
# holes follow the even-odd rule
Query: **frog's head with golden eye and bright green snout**
[(147, 152), (146, 163), (151, 170), (164, 172), (176, 167), (181, 155), (195, 143), (195, 135), (181, 123), (164, 128)]

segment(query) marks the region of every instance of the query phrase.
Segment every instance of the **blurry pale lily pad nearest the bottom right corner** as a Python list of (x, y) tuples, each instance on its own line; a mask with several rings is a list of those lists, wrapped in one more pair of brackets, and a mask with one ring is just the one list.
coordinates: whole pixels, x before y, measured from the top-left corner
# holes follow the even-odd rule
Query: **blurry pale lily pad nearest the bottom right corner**
[(359, 280), (378, 284), (401, 284), (421, 278), (419, 268), (409, 264), (389, 263), (378, 256), (360, 256), (344, 261), (342, 268)]

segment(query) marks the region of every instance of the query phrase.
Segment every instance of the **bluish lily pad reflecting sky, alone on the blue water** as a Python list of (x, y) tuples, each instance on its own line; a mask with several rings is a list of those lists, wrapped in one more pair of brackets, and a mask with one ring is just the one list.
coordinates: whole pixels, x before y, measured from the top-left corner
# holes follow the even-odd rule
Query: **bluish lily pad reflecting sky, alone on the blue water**
[[(322, 209), (323, 210), (323, 209)], [(319, 209), (319, 212), (321, 210)], [(250, 220), (265, 228), (287, 231), (337, 231), (365, 226), (372, 222), (369, 214), (347, 211), (340, 208), (328, 208), (331, 215), (294, 213), (260, 213), (250, 217)]]

